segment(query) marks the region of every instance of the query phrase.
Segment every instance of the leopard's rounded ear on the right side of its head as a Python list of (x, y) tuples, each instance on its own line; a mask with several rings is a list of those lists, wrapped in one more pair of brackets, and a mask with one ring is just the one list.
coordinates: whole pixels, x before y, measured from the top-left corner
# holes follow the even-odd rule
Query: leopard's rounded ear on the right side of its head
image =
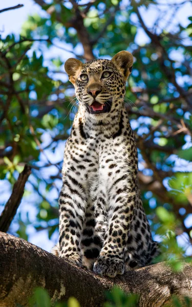
[(112, 58), (112, 62), (124, 76), (124, 80), (129, 77), (133, 67), (133, 55), (128, 51), (120, 51)]

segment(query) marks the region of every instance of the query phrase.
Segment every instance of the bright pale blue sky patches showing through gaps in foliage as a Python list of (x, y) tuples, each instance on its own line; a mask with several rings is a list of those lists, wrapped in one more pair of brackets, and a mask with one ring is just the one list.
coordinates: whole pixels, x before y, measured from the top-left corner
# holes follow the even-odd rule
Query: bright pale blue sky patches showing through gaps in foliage
[[(145, 7), (141, 7), (140, 8), (140, 12), (142, 14), (142, 17), (145, 21), (145, 24), (148, 27), (152, 27), (154, 25), (154, 21), (156, 20), (156, 18), (158, 17), (158, 15), (160, 14), (160, 23), (159, 26), (164, 27), (164, 25), (166, 25), (167, 20), (170, 17), (171, 14), (171, 10), (167, 11), (167, 4), (170, 3), (179, 3), (181, 1), (159, 1), (159, 3), (161, 3), (160, 8), (160, 13), (158, 12), (156, 6), (150, 6), (150, 9), (146, 9)], [(5, 4), (6, 3), (6, 4)], [(123, 1), (124, 4), (127, 3), (127, 0)], [(0, 9), (3, 9), (5, 7), (11, 7), (11, 6), (15, 6), (17, 4), (24, 4), (23, 8), (20, 9), (16, 9), (16, 10), (12, 10), (12, 11), (8, 11), (8, 12), (4, 12), (0, 15), (0, 34), (2, 36), (2, 38), (5, 38), (8, 34), (10, 33), (14, 33), (14, 34), (19, 34), (20, 29), (23, 25), (23, 23), (25, 22), (25, 20), (27, 20), (28, 15), (33, 15), (35, 13), (43, 15), (46, 14), (45, 12), (43, 12), (38, 5), (36, 5), (33, 0), (23, 0), (23, 1), (17, 1), (17, 0), (9, 0), (7, 2), (3, 2), (1, 1), (0, 3)], [(178, 25), (178, 23), (180, 23), (183, 27), (186, 27), (189, 24), (189, 20), (187, 19), (188, 16), (192, 15), (192, 5), (191, 3), (186, 3), (184, 6), (182, 6), (182, 9), (177, 11), (177, 14), (175, 16), (175, 18), (172, 20), (172, 23), (170, 23), (169, 25), (167, 24), (167, 31), (172, 31), (174, 32), (175, 27)], [(136, 15), (133, 14), (131, 20), (134, 23), (137, 23), (137, 17)], [(157, 29), (157, 31), (160, 31), (160, 28)], [(144, 45), (145, 43), (149, 42), (149, 38), (148, 36), (145, 34), (145, 32), (142, 29), (139, 29), (137, 36), (136, 36), (136, 42), (138, 43), (138, 45)], [(57, 45), (59, 46), (64, 46), (66, 47), (68, 50), (71, 49), (70, 45), (67, 45), (65, 43), (60, 43), (59, 41), (57, 42)], [(77, 48), (77, 53), (81, 53), (82, 52), (82, 48), (81, 46), (78, 46)], [(58, 49), (56, 47), (52, 47), (50, 48), (49, 51), (46, 51), (46, 57), (49, 59), (50, 57), (54, 57), (54, 55), (56, 55), (57, 57), (60, 56), (60, 58), (65, 61), (68, 57), (71, 57), (71, 53), (69, 52), (63, 52), (61, 49)], [(172, 57), (176, 58), (179, 60), (179, 53), (174, 53), (172, 55)], [(62, 68), (63, 69), (63, 68)], [(63, 80), (66, 80), (66, 76), (63, 75), (62, 76)], [(46, 140), (48, 140), (48, 136), (44, 136)], [(190, 142), (190, 140), (188, 140), (188, 142)], [(57, 158), (59, 161), (62, 160), (62, 155), (63, 155), (63, 147), (65, 146), (65, 142), (61, 142), (59, 144), (59, 148), (57, 150)], [(41, 157), (41, 160), (43, 159), (43, 157)], [(50, 157), (50, 159), (52, 159), (52, 157)], [(55, 159), (55, 157), (53, 157), (53, 159)], [(179, 162), (179, 160), (177, 161), (176, 165), (178, 168), (181, 166), (181, 162)], [(29, 183), (27, 183), (26, 185), (28, 190), (31, 190), (31, 186)], [(10, 189), (11, 186), (9, 183), (6, 182), (6, 191), (5, 192), (5, 181), (0, 181), (0, 193), (2, 194), (2, 198), (3, 201), (7, 201), (8, 197), (9, 197), (9, 193), (10, 193)], [(5, 193), (3, 193), (3, 191)], [(22, 204), (19, 207), (19, 212), (23, 215), (26, 215), (27, 212), (30, 212), (30, 219), (31, 221), (33, 221), (35, 213), (36, 213), (36, 209), (33, 206), (33, 202), (35, 201), (35, 195), (33, 198), (33, 201), (31, 201), (31, 196), (25, 198), (25, 202), (23, 201)], [(26, 207), (27, 204), (27, 207)], [(190, 220), (191, 223), (191, 220)], [(17, 229), (17, 225), (12, 223), (12, 230), (16, 230)], [(56, 242), (57, 240), (57, 234), (55, 233), (55, 235), (52, 238), (51, 242), (48, 239), (48, 234), (47, 231), (41, 231), (38, 233), (34, 233), (34, 229), (32, 226), (28, 227), (28, 233), (29, 233), (29, 240), (30, 242), (36, 244), (37, 246), (40, 246), (41, 248), (44, 248), (46, 250), (50, 250), (51, 247), (53, 246), (53, 242)], [(181, 238), (179, 238), (179, 242), (180, 244), (183, 244), (183, 240)]]

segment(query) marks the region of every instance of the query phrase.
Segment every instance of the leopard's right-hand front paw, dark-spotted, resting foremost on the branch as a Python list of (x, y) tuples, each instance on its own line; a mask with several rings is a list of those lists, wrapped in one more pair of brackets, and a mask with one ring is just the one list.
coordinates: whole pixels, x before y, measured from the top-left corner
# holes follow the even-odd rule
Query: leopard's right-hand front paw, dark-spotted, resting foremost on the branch
[(102, 276), (115, 277), (124, 273), (125, 264), (118, 258), (98, 257), (95, 261), (93, 271)]

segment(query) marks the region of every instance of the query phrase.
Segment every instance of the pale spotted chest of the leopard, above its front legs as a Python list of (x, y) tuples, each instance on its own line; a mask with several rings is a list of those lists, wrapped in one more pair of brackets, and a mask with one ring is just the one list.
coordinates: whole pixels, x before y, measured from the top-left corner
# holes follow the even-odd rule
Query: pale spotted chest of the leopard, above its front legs
[(71, 135), (65, 149), (63, 176), (68, 173), (80, 180), (92, 198), (98, 190), (108, 194), (113, 182), (129, 170), (131, 151), (127, 142), (123, 136), (114, 139), (102, 133), (90, 134), (86, 140)]

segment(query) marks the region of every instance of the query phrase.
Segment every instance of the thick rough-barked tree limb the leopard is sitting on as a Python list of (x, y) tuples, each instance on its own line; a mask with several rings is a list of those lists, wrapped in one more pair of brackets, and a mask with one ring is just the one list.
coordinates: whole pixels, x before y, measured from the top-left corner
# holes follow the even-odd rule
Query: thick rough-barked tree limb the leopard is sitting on
[(183, 262), (174, 273), (161, 262), (114, 279), (101, 278), (42, 250), (23, 239), (0, 233), (0, 306), (28, 306), (37, 286), (48, 290), (52, 300), (76, 297), (81, 307), (102, 306), (104, 292), (113, 286), (140, 295), (139, 306), (159, 307), (173, 294), (192, 298), (192, 267)]

